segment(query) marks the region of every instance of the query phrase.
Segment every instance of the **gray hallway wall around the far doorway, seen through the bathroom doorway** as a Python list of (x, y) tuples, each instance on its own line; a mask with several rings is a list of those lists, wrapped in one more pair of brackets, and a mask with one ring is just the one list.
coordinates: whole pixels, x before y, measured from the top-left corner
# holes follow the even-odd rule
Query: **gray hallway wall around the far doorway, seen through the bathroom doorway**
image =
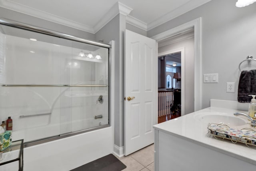
[(194, 38), (189, 38), (158, 48), (158, 53), (185, 48), (185, 114), (194, 112)]

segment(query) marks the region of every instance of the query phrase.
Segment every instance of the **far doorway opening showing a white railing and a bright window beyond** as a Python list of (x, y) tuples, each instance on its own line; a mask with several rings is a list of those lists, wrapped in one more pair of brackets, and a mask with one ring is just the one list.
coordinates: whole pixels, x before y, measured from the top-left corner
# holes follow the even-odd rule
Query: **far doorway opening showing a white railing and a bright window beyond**
[(181, 116), (181, 52), (158, 57), (158, 123)]

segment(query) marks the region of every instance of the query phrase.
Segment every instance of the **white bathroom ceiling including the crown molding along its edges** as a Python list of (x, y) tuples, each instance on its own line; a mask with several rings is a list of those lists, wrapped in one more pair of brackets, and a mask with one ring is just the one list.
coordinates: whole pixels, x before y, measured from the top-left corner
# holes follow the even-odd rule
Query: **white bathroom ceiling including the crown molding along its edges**
[(127, 23), (148, 31), (209, 1), (0, 0), (0, 6), (95, 34), (119, 13)]

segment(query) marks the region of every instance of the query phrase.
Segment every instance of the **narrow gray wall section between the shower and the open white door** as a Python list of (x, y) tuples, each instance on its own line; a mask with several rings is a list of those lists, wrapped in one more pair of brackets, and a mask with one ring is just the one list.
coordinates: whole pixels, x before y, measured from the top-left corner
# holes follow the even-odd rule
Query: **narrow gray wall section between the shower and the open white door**
[(115, 41), (115, 81), (114, 81), (114, 144), (124, 146), (124, 32), (126, 29), (126, 16), (118, 14), (96, 35), (96, 40), (104, 42)]

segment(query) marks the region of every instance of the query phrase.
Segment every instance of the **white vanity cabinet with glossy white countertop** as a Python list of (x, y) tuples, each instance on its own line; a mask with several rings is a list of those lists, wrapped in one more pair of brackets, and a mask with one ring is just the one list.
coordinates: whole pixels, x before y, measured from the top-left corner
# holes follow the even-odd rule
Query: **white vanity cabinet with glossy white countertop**
[(209, 107), (154, 125), (155, 171), (255, 170), (256, 149), (215, 139), (208, 134), (208, 123), (195, 117), (209, 113), (227, 113), (231, 117), (234, 111)]

